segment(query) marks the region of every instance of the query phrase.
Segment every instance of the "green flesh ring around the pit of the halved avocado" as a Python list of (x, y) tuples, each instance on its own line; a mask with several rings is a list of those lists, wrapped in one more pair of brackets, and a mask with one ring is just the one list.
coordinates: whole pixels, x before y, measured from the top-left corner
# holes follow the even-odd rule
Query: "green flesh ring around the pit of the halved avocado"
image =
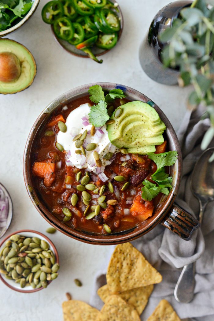
[(21, 74), (15, 81), (0, 81), (0, 93), (13, 94), (29, 87), (36, 75), (36, 63), (30, 51), (14, 40), (0, 39), (0, 53), (3, 52), (11, 52), (17, 56), (21, 65)]

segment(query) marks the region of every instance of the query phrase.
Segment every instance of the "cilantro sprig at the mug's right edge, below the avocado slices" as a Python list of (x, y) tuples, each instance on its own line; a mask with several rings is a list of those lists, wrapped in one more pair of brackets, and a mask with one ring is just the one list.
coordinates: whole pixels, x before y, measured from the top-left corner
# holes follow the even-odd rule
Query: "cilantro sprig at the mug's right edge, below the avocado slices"
[(172, 189), (172, 177), (165, 172), (165, 166), (172, 166), (177, 160), (177, 151), (170, 151), (160, 154), (149, 153), (150, 160), (153, 160), (157, 165), (157, 170), (151, 175), (152, 180), (156, 183), (151, 183), (147, 179), (143, 181), (142, 198), (151, 201), (160, 192), (168, 195)]

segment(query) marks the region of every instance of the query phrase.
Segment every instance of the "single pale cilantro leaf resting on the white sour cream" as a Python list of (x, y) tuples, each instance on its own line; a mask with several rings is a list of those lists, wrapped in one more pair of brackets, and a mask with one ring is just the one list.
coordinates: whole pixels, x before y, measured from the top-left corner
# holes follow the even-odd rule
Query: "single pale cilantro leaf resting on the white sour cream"
[(91, 107), (89, 112), (89, 122), (91, 125), (102, 127), (109, 118), (107, 103), (104, 100), (100, 100), (96, 106)]

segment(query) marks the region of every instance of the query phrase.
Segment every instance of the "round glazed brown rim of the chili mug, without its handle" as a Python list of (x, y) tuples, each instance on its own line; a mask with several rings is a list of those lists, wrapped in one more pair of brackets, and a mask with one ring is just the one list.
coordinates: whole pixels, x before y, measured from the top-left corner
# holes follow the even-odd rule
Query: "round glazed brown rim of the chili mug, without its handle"
[[(175, 162), (175, 165), (173, 165), (172, 169), (175, 169), (175, 173), (173, 174), (173, 183), (174, 186), (169, 193), (164, 198), (164, 202), (161, 207), (161, 210), (157, 213), (156, 216), (152, 216), (150, 219), (146, 220), (148, 223), (145, 227), (143, 225), (144, 222), (142, 222), (141, 226), (135, 226), (131, 230), (127, 230), (124, 232), (125, 234), (110, 234), (110, 235), (103, 235), (103, 234), (90, 234), (89, 231), (78, 231), (74, 230), (72, 228), (69, 228), (66, 224), (59, 221), (52, 213), (50, 213), (47, 208), (40, 202), (37, 193), (35, 192), (34, 188), (31, 187), (31, 178), (30, 178), (30, 168), (28, 161), (30, 160), (30, 151), (32, 147), (32, 143), (35, 137), (35, 134), (41, 128), (41, 124), (44, 121), (44, 117), (49, 115), (53, 112), (54, 109), (64, 106), (66, 103), (69, 103), (75, 99), (81, 98), (86, 96), (88, 93), (88, 89), (90, 86), (93, 86), (95, 84), (100, 85), (104, 90), (111, 90), (115, 88), (121, 88), (125, 91), (127, 98), (130, 100), (141, 100), (144, 102), (152, 102), (153, 107), (158, 112), (161, 120), (165, 123), (167, 129), (165, 130), (165, 133), (167, 135), (168, 143), (170, 142), (172, 147), (172, 150), (177, 150), (178, 152), (178, 160)], [(133, 98), (134, 97), (134, 98)], [(170, 141), (169, 141), (170, 139)], [(150, 230), (152, 230), (159, 222), (163, 220), (163, 218), (166, 216), (167, 212), (169, 211), (170, 207), (173, 205), (173, 202), (175, 200), (175, 197), (178, 192), (178, 188), (181, 181), (181, 174), (182, 174), (182, 153), (180, 149), (180, 145), (178, 142), (178, 138), (175, 134), (175, 130), (173, 129), (171, 123), (169, 122), (166, 115), (163, 113), (163, 111), (153, 102), (151, 101), (147, 96), (142, 94), (139, 91), (134, 90), (133, 88), (130, 88), (128, 86), (124, 86), (117, 83), (110, 83), (110, 82), (95, 82), (90, 83), (86, 85), (82, 85), (79, 87), (76, 87), (70, 91), (65, 92), (64, 94), (57, 97), (55, 100), (53, 100), (45, 109), (44, 111), (39, 115), (37, 120), (35, 121), (34, 125), (31, 128), (30, 134), (28, 136), (25, 151), (24, 151), (24, 158), (23, 158), (23, 174), (24, 174), (24, 181), (25, 186), (27, 188), (28, 194), (30, 196), (30, 199), (38, 212), (42, 215), (42, 217), (51, 224), (54, 228), (61, 231), (63, 234), (73, 238), (80, 240), (85, 243), (89, 244), (97, 244), (97, 245), (114, 245), (114, 244), (120, 244), (125, 242), (130, 242), (134, 239), (139, 238), (140, 236), (148, 233)]]

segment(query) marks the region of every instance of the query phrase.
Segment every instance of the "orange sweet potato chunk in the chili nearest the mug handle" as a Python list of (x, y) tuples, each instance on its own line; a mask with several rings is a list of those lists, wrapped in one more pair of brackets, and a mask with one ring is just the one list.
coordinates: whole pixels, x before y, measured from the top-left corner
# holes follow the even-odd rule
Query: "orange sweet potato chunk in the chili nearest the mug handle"
[(145, 201), (141, 203), (141, 195), (137, 195), (134, 199), (130, 213), (141, 221), (145, 221), (148, 217), (152, 216), (154, 205), (152, 201)]

